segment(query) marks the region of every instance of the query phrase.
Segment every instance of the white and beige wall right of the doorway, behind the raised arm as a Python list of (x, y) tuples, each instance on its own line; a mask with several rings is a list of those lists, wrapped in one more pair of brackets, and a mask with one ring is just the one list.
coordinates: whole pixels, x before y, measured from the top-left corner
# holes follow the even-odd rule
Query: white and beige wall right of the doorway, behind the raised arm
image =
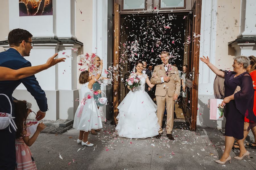
[[(239, 34), (241, 1), (202, 1), (200, 57), (209, 56), (219, 69), (232, 70), (235, 51), (228, 46)], [(243, 10), (243, 9), (242, 9)], [(214, 97), (216, 75), (200, 61), (197, 126), (223, 128), (224, 121), (210, 120), (208, 100)]]

